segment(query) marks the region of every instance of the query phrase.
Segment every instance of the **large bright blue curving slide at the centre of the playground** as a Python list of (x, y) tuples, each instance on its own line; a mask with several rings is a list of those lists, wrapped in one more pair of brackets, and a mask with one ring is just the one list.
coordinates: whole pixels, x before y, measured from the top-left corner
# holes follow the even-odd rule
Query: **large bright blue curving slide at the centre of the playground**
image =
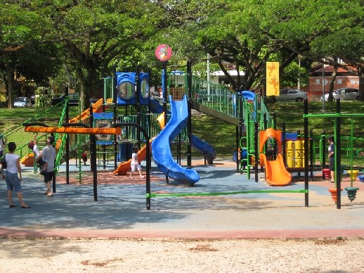
[(186, 96), (182, 101), (171, 102), (172, 117), (162, 132), (152, 141), (152, 153), (155, 164), (169, 178), (174, 179), (179, 184), (193, 186), (200, 180), (200, 176), (195, 170), (186, 169), (178, 165), (171, 155), (171, 141), (186, 127), (188, 121), (188, 104)]

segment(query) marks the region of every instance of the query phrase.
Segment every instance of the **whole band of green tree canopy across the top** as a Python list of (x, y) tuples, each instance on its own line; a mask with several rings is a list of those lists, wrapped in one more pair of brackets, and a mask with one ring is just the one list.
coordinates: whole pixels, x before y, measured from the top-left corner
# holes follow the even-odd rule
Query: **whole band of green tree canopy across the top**
[[(234, 89), (262, 85), (266, 61), (279, 61), (282, 79), (294, 82), (311, 62), (342, 66), (360, 79), (364, 100), (362, 0), (5, 0), (0, 6), (0, 73), (12, 106), (13, 75), (45, 85), (67, 75), (82, 106), (114, 68), (151, 69), (158, 44), (174, 49), (170, 65), (188, 58), (211, 61)], [(298, 57), (304, 68), (297, 67)], [(338, 59), (344, 61), (338, 61)], [(198, 61), (196, 61), (198, 62)], [(297, 80), (297, 79), (296, 79)], [(301, 79), (304, 81), (304, 77)]]

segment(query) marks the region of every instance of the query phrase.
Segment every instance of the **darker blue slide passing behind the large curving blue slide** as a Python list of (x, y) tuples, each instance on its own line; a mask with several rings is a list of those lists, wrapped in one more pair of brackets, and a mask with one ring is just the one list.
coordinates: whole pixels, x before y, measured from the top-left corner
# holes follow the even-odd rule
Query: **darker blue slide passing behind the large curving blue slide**
[[(157, 101), (150, 100), (150, 109), (153, 113), (163, 113), (163, 106), (161, 106), (160, 103), (157, 103)], [(192, 135), (191, 144), (192, 148), (204, 155), (204, 158), (206, 158), (207, 160), (207, 164), (214, 163), (214, 159), (216, 158), (216, 151), (214, 149), (214, 146), (208, 144), (202, 139), (199, 139), (195, 135)]]

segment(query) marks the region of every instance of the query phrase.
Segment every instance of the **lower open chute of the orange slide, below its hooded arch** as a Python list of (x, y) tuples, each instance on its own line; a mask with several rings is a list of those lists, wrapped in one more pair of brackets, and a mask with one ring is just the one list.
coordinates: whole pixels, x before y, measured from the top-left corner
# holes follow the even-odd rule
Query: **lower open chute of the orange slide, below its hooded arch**
[(266, 170), (266, 182), (271, 186), (287, 186), (292, 180), (292, 174), (285, 168), (283, 157), (278, 153), (276, 160), (267, 160), (266, 155), (261, 153)]

